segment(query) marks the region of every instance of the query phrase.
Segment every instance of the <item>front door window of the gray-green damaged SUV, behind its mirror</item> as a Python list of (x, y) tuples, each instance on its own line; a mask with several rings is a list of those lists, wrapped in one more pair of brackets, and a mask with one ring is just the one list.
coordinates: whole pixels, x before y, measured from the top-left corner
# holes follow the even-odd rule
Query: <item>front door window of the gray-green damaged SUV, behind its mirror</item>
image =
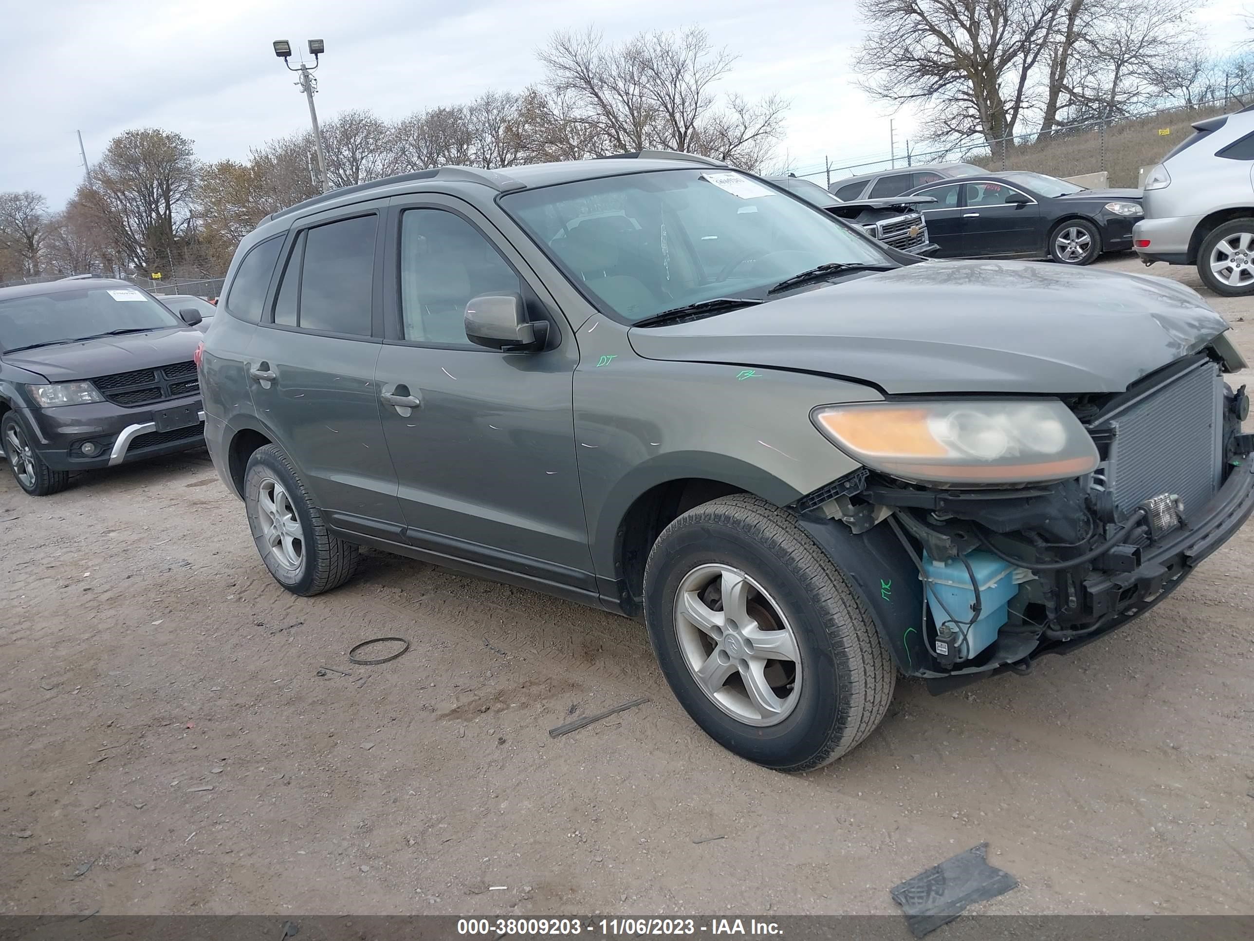
[(408, 210), (400, 226), (403, 336), (414, 343), (475, 346), (465, 310), (484, 294), (520, 294), (518, 275), (479, 230), (443, 210)]

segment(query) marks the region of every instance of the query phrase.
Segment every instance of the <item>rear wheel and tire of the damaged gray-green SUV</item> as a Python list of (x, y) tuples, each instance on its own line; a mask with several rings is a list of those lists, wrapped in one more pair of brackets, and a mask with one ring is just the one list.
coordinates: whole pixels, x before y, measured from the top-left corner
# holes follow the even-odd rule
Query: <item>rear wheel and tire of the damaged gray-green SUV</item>
[(257, 448), (245, 470), (248, 528), (275, 581), (293, 595), (321, 595), (357, 571), (357, 546), (332, 536), (277, 444)]

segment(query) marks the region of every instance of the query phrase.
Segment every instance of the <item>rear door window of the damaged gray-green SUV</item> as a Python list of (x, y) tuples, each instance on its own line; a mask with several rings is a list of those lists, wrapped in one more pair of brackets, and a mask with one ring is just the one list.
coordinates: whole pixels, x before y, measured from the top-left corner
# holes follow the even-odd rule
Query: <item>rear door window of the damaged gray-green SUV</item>
[(377, 216), (329, 222), (296, 240), (275, 300), (275, 322), (370, 336)]

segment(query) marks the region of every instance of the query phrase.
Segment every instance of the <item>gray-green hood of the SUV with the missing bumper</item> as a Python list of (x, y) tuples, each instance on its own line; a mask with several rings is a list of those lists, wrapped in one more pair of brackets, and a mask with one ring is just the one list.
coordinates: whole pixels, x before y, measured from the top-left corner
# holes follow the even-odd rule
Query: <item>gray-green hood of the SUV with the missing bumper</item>
[(1226, 329), (1167, 279), (928, 261), (628, 336), (647, 359), (823, 373), (890, 394), (1063, 395), (1121, 391)]

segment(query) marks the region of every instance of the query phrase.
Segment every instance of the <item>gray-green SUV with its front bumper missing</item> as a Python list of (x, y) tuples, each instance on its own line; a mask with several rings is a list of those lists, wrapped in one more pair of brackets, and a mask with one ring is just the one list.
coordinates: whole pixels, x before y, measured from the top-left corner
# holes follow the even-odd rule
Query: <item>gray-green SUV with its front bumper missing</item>
[(1027, 673), (1254, 507), (1190, 289), (929, 262), (696, 158), (443, 168), (268, 217), (201, 361), (265, 565), (357, 547), (643, 615), (692, 718), (804, 770), (897, 675)]

